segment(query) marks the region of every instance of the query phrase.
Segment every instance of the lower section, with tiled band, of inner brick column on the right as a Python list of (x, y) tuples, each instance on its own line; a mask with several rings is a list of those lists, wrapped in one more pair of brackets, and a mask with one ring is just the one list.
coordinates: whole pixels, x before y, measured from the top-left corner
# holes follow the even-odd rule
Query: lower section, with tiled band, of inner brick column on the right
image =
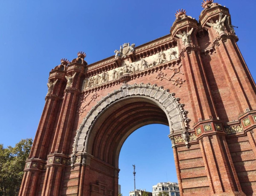
[(222, 122), (201, 121), (195, 124), (194, 128), (203, 152), (204, 167), (212, 195), (245, 195), (227, 146)]

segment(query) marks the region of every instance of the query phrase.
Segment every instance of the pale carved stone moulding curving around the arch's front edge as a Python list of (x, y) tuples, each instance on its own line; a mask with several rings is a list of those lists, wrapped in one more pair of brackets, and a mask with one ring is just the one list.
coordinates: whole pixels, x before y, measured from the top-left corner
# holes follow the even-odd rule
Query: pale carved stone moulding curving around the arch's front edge
[(102, 98), (102, 100), (87, 113), (87, 116), (79, 126), (79, 130), (76, 131), (73, 154), (87, 152), (87, 144), (93, 124), (96, 123), (103, 111), (107, 110), (112, 104), (115, 104), (116, 101), (122, 98), (138, 95), (151, 99), (165, 112), (169, 122), (170, 134), (174, 133), (174, 131), (186, 130), (186, 111), (182, 108), (183, 104), (179, 103), (180, 98), (174, 97), (175, 93), (170, 93), (169, 89), (164, 90), (162, 86), (157, 87), (156, 84), (124, 84), (120, 89), (114, 90), (112, 93)]

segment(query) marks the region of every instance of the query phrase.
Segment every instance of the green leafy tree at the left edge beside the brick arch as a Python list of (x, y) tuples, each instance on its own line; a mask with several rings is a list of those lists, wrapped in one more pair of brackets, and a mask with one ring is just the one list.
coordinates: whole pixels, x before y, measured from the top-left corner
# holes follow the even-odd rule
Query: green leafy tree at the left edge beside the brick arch
[(15, 147), (0, 144), (0, 195), (18, 195), (31, 147), (32, 138), (22, 139)]

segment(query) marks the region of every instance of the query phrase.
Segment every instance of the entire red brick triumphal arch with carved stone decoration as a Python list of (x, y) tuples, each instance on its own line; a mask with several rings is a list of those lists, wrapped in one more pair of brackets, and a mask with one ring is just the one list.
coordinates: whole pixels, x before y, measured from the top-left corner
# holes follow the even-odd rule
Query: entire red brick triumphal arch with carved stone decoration
[(256, 195), (256, 85), (229, 10), (181, 9), (170, 34), (87, 65), (61, 59), (20, 196), (117, 196), (118, 158), (137, 128), (166, 124), (180, 195)]

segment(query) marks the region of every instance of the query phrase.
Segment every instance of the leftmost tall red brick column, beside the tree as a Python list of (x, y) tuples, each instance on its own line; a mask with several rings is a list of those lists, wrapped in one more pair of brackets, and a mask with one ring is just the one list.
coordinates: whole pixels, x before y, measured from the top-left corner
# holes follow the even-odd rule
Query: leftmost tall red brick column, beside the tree
[[(57, 118), (57, 111), (60, 105), (61, 96), (64, 89), (64, 67), (68, 61), (61, 59), (61, 65), (55, 67), (50, 72), (47, 83), (48, 92), (45, 98), (46, 102), (38, 125), (38, 130), (30, 151), (29, 159), (26, 160), (23, 178), (25, 182), (20, 187), (19, 195), (35, 195), (38, 190), (38, 182), (40, 181), (41, 172), (44, 170), (47, 159), (47, 148), (52, 137), (53, 125)], [(63, 68), (63, 69), (62, 69)], [(35, 171), (36, 170), (36, 171)], [(34, 173), (37, 173), (34, 175)]]

